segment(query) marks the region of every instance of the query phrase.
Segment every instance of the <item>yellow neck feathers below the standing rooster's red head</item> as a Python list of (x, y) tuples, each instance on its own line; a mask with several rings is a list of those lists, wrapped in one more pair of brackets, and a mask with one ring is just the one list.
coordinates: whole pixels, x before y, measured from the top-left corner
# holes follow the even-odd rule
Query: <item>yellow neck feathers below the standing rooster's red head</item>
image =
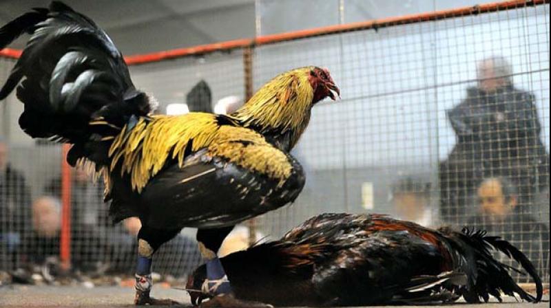
[(290, 131), (293, 147), (310, 120), (314, 97), (308, 79), (311, 69), (293, 69), (273, 78), (233, 113), (233, 117), (260, 133)]

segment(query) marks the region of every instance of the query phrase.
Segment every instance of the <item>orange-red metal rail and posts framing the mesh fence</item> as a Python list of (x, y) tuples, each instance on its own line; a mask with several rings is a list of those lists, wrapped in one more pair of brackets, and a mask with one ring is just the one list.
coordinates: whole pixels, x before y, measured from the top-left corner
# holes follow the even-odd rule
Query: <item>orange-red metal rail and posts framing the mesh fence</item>
[[(253, 69), (254, 69), (254, 54), (257, 47), (264, 45), (274, 45), (287, 41), (300, 41), (304, 39), (310, 39), (317, 36), (328, 36), (331, 34), (342, 34), (346, 32), (356, 32), (362, 30), (378, 30), (382, 28), (389, 28), (396, 25), (406, 25), (411, 23), (425, 23), (428, 21), (441, 21), (444, 19), (453, 19), (456, 17), (464, 17), (477, 14), (485, 14), (488, 12), (499, 12), (506, 10), (515, 10), (519, 8), (525, 8), (529, 6), (545, 5), (550, 3), (550, 0), (512, 0), (485, 3), (481, 5), (474, 5), (464, 8), (456, 8), (453, 10), (441, 10), (437, 12), (426, 12), (422, 14), (412, 14), (402, 17), (391, 17), (385, 19), (376, 19), (372, 21), (363, 21), (359, 23), (349, 23), (342, 25), (331, 25), (328, 27), (315, 28), (309, 30), (300, 30), (296, 32), (273, 34), (267, 36), (258, 36), (253, 39), (238, 39), (234, 41), (226, 41), (221, 43), (214, 43), (209, 45), (199, 45), (195, 47), (186, 47), (176, 50), (167, 50), (163, 52), (155, 52), (152, 54), (140, 54), (126, 56), (125, 60), (128, 65), (145, 65), (148, 63), (157, 63), (162, 61), (169, 61), (176, 58), (187, 58), (196, 56), (205, 56), (208, 54), (216, 54), (229, 52), (231, 50), (242, 50), (242, 61), (244, 69), (244, 85), (245, 85), (245, 98), (250, 98), (253, 94)], [(12, 58), (17, 59), (21, 56), (20, 50), (12, 50), (6, 48), (0, 50), (0, 58)], [(63, 157), (67, 153), (69, 146), (63, 145)], [(63, 203), (63, 218), (61, 229), (61, 251), (60, 256), (63, 262), (70, 262), (70, 203), (71, 203), (71, 182), (70, 182), (70, 167), (65, 163), (63, 159), (62, 164), (62, 203)], [(256, 229), (256, 223), (254, 220), (249, 222), (249, 232), (251, 243), (256, 241), (256, 235), (254, 230)]]

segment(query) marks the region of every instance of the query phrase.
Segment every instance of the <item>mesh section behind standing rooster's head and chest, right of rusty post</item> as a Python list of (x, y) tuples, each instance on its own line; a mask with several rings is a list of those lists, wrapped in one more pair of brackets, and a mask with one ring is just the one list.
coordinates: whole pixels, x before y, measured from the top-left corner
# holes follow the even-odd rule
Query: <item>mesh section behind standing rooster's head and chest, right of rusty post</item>
[[(315, 47), (313, 47), (315, 46)], [(255, 89), (287, 69), (305, 65), (329, 67), (340, 83), (340, 43), (337, 36), (258, 47), (254, 55)], [(258, 221), (264, 236), (278, 238), (294, 225), (321, 211), (344, 211), (344, 118), (343, 104), (320, 103), (299, 144), (291, 152), (306, 172), (306, 186), (294, 206), (269, 212)], [(333, 170), (326, 173), (326, 170)], [(330, 192), (322, 194), (321, 192)]]

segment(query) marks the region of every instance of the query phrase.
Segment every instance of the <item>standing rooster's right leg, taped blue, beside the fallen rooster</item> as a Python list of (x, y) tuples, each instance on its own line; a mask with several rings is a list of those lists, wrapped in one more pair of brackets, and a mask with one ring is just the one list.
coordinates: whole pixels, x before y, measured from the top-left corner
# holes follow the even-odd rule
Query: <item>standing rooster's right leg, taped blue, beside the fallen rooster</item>
[(216, 252), (218, 252), (222, 241), (224, 241), (232, 229), (233, 225), (225, 228), (199, 229), (197, 231), (199, 249), (207, 265), (207, 281), (205, 281), (203, 292), (211, 296), (231, 294), (229, 280)]

